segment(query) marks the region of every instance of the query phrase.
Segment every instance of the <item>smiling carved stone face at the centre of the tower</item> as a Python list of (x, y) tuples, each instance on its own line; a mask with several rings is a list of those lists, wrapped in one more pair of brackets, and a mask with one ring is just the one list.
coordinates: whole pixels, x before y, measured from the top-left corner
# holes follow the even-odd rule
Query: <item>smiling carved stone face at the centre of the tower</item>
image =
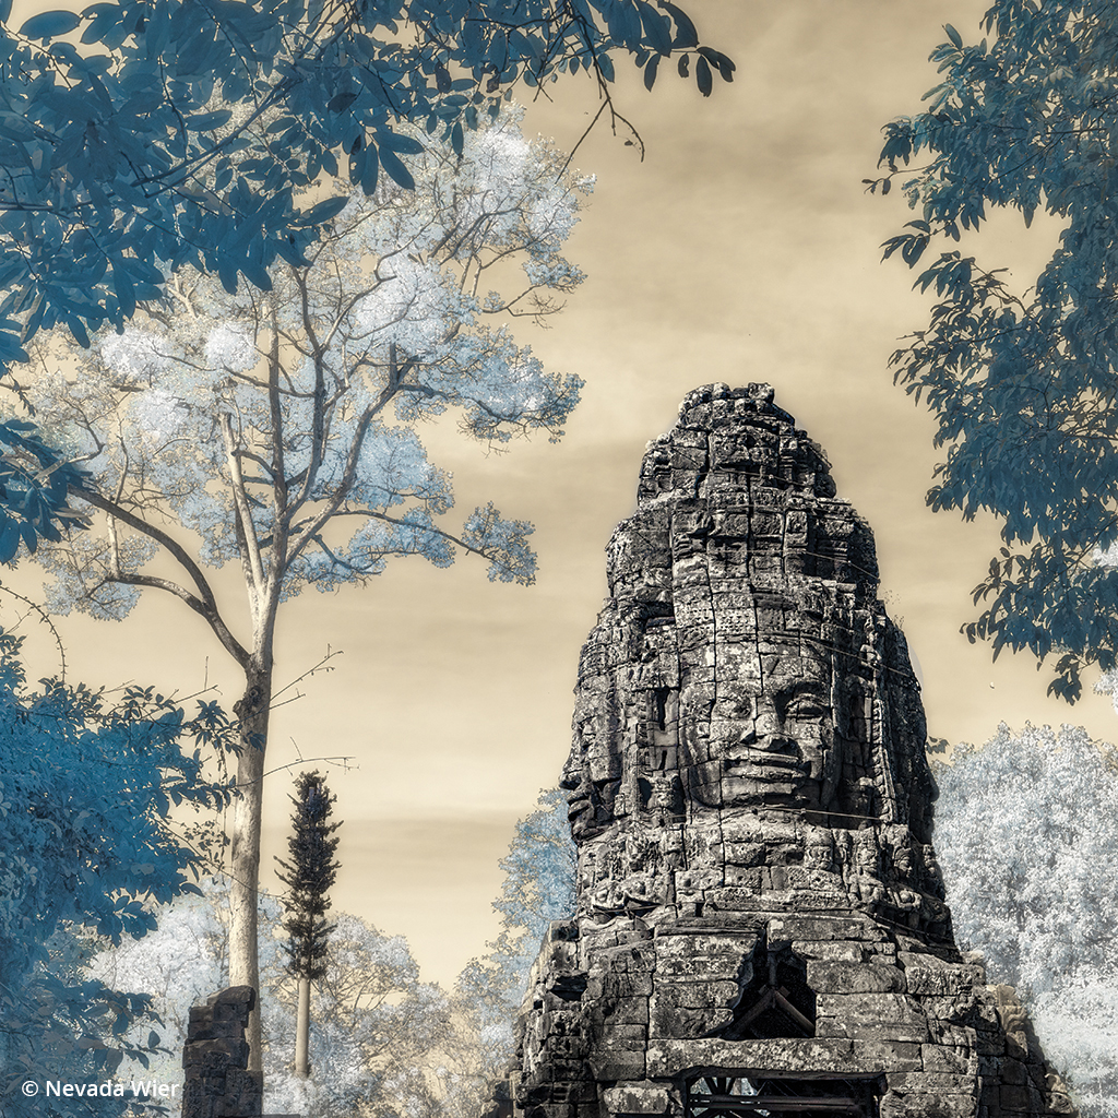
[(832, 702), (828, 655), (765, 639), (719, 684), (709, 759), (683, 774), (694, 808), (830, 807), (841, 769)]

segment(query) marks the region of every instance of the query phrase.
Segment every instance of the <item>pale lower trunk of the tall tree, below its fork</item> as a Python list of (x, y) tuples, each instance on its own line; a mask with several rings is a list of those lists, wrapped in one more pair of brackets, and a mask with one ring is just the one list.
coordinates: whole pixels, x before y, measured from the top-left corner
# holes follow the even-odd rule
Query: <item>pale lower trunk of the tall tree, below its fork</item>
[(260, 968), (256, 942), (256, 891), (260, 869), (260, 808), (264, 802), (264, 750), (272, 701), (272, 642), (245, 669), (245, 694), (234, 705), (240, 720), (240, 757), (231, 840), (233, 888), (229, 898), (229, 984), (252, 986), (256, 1006), (248, 1018), (248, 1068), (263, 1071), (260, 1053)]

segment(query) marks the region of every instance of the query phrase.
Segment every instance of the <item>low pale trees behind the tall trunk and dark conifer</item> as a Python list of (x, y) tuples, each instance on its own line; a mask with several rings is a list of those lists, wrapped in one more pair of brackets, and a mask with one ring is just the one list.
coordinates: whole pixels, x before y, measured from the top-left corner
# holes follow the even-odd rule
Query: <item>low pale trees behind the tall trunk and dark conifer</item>
[[(229, 882), (218, 877), (202, 888), (200, 896), (152, 908), (157, 930), (106, 946), (88, 967), (88, 977), (151, 994), (168, 1054), (153, 1060), (143, 1078), (173, 1081), (181, 1076), (190, 1006), (229, 983)], [(259, 925), (266, 1110), (307, 1118), (477, 1112), (470, 1106), (473, 1096), (463, 1098), (462, 1106), (455, 1102), (474, 1078), (468, 1074), (473, 1043), (454, 1020), (451, 999), (438, 986), (419, 980), (402, 936), (386, 936), (344, 912), (330, 932), (330, 954), (312, 995), (313, 1076), (292, 1074), (299, 994), (283, 951), (276, 898), (260, 896)], [(143, 1039), (139, 1029), (125, 1035)], [(442, 1084), (438, 1069), (446, 1072)], [(140, 1077), (135, 1067), (123, 1073)]]

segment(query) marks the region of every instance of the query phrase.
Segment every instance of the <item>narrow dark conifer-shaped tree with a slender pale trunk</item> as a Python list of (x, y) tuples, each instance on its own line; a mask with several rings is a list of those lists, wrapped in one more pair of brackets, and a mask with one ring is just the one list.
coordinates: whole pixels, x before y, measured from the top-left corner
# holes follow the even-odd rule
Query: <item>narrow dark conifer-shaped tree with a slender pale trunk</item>
[(333, 930), (324, 919), (330, 908), (326, 890), (334, 883), (338, 863), (333, 861), (338, 840), (330, 836), (341, 823), (330, 823), (331, 796), (318, 771), (304, 773), (296, 784), (292, 815), (295, 833), (287, 840), (291, 862), (276, 859), (284, 873), (280, 880), (288, 888), (287, 919), (290, 938), (285, 945), (287, 966), (299, 978), (299, 1017), (295, 1030), (295, 1074), (310, 1074), (311, 983), (325, 974), (326, 937)]

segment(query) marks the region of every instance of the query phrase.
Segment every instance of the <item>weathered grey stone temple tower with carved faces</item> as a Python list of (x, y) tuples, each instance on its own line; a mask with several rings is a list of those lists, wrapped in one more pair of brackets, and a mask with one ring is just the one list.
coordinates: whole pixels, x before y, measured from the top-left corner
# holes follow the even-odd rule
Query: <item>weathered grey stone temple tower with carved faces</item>
[(1072, 1114), (1012, 988), (956, 948), (873, 537), (771, 388), (688, 396), (607, 574), (523, 1118)]

